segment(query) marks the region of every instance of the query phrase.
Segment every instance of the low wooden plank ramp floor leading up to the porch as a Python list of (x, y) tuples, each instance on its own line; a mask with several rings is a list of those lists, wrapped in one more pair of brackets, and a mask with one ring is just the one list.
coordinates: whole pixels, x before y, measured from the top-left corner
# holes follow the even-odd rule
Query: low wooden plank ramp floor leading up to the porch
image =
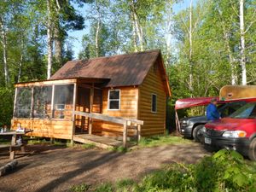
[(98, 148), (113, 148), (122, 146), (122, 142), (119, 142), (112, 138), (89, 134), (74, 135), (73, 141), (85, 144), (95, 144)]

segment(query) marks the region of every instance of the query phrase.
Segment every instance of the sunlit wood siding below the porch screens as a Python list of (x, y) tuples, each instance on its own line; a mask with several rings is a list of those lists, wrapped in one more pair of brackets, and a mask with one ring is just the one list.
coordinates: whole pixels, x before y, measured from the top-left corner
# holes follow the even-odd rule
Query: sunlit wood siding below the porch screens
[(71, 120), (49, 120), (49, 119), (12, 119), (12, 129), (21, 127), (32, 129), (32, 133), (27, 134), (33, 137), (53, 137), (62, 139), (72, 139), (73, 122)]

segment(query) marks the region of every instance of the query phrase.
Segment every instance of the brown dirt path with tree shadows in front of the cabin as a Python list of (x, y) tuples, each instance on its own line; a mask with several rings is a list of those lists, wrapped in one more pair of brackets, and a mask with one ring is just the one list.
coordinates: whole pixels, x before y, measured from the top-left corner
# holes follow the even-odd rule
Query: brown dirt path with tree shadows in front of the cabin
[(68, 191), (79, 183), (139, 179), (163, 164), (195, 163), (207, 154), (200, 144), (192, 145), (142, 148), (126, 154), (97, 148), (45, 148), (40, 154), (18, 159), (18, 169), (0, 177), (0, 191)]

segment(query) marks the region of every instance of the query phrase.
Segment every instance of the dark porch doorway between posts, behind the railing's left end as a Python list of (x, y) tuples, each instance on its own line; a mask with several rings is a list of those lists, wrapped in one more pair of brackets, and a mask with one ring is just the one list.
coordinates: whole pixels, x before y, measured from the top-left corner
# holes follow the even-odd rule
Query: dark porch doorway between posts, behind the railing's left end
[[(90, 89), (78, 86), (76, 110), (90, 112)], [(88, 133), (89, 119), (76, 115), (76, 134)]]

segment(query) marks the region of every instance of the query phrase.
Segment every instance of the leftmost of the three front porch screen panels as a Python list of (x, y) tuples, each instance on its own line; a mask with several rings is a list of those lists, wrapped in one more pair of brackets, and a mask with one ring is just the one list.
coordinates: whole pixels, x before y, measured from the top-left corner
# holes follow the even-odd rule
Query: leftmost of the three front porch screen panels
[(32, 88), (18, 87), (15, 102), (15, 117), (16, 118), (30, 118), (31, 102), (32, 102)]

